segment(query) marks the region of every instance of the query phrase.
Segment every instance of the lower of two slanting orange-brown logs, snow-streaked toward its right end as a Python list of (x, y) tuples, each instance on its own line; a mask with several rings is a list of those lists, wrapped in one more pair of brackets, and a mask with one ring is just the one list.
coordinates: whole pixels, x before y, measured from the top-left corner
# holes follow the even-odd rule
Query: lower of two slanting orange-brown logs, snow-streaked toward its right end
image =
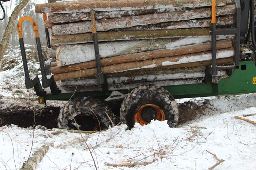
[[(234, 55), (234, 48), (225, 48), (221, 50), (217, 50), (217, 58), (227, 58)], [(138, 62), (130, 62), (130, 63), (121, 63), (110, 66), (102, 67), (102, 73), (114, 73), (114, 72), (123, 72), (129, 70), (138, 70), (140, 68), (153, 68), (160, 66), (169, 66), (174, 64), (183, 64), (183, 63), (193, 63), (205, 60), (211, 60), (211, 51), (207, 52), (198, 52), (193, 54), (186, 54), (180, 56), (172, 56), (165, 58), (157, 58), (157, 59), (148, 59)], [(54, 80), (67, 80), (67, 79), (77, 79), (84, 78), (87, 76), (95, 76), (97, 73), (96, 68), (88, 68), (84, 70), (65, 72), (60, 74), (54, 74)]]

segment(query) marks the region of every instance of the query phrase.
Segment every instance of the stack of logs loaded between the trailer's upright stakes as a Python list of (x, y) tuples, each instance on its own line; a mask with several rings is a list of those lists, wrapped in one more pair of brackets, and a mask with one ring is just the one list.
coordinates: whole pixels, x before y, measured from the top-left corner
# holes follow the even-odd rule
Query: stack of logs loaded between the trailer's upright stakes
[[(217, 28), (230, 28), (233, 0), (217, 0), (216, 6)], [(55, 80), (96, 77), (91, 11), (103, 74), (155, 74), (212, 64), (210, 0), (61, 1), (35, 6), (36, 13), (49, 13), (45, 27), (52, 30), (56, 51)], [(233, 63), (232, 37), (217, 36), (218, 65)]]

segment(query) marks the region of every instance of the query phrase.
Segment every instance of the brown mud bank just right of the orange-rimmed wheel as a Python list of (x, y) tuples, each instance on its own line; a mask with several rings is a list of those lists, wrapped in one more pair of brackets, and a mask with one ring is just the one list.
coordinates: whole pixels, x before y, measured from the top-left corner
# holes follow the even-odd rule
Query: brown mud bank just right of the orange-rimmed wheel
[(179, 119), (177, 126), (184, 126), (193, 120), (198, 120), (203, 115), (212, 115), (212, 108), (209, 100), (205, 100), (202, 105), (188, 101), (178, 105)]

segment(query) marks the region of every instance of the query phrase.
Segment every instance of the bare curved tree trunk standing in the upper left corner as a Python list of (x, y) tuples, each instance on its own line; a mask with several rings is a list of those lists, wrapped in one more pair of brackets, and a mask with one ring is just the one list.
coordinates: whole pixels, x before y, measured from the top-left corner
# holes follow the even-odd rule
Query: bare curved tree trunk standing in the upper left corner
[(11, 38), (13, 28), (15, 26), (16, 19), (18, 18), (20, 11), (26, 7), (30, 0), (23, 0), (19, 5), (14, 8), (12, 15), (9, 19), (7, 27), (5, 28), (4, 36), (0, 44), (0, 62), (4, 58), (5, 51), (7, 50), (9, 40)]

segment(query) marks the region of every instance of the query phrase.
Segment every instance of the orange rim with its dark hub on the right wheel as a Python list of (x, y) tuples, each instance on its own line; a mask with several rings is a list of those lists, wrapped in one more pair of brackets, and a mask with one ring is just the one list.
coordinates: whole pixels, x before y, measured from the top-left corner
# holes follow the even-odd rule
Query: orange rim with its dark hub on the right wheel
[(151, 120), (165, 120), (163, 110), (154, 104), (145, 104), (134, 115), (134, 122), (141, 125), (150, 123)]

